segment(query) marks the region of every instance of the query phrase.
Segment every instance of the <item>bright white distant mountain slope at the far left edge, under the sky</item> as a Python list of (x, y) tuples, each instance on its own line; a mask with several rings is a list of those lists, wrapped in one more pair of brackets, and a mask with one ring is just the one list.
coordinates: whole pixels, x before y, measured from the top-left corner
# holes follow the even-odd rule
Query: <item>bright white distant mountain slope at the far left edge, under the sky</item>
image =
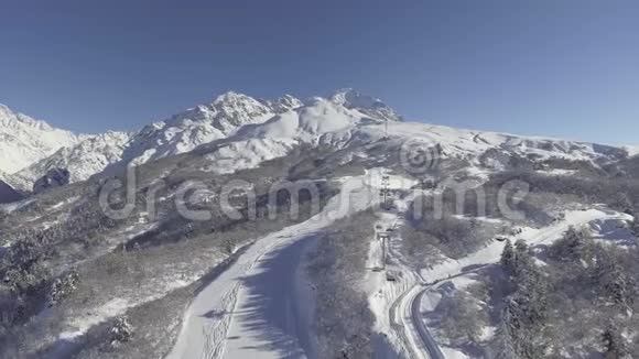
[(0, 105), (0, 171), (15, 173), (82, 139)]

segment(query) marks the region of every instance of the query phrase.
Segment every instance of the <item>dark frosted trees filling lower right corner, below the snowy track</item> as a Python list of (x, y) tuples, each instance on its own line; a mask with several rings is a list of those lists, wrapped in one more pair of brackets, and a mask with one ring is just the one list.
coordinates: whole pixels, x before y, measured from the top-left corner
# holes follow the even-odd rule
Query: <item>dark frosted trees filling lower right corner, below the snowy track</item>
[(540, 265), (522, 240), (503, 248), (500, 266), (508, 292), (492, 357), (560, 358), (585, 350), (630, 358), (638, 349), (632, 339), (637, 249), (598, 243), (570, 228), (543, 253), (545, 264)]

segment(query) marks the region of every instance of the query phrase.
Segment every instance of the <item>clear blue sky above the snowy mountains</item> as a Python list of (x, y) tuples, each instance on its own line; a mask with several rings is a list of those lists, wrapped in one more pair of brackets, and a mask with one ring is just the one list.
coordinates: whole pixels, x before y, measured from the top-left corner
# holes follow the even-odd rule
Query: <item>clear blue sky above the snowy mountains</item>
[(232, 89), (639, 144), (637, 0), (0, 0), (0, 102), (136, 130)]

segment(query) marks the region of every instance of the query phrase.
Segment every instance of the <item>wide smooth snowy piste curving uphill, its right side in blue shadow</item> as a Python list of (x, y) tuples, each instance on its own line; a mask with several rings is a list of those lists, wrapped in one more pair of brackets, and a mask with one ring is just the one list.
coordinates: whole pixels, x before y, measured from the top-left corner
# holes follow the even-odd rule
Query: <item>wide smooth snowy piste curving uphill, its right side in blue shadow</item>
[(313, 218), (264, 236), (203, 287), (166, 358), (313, 357), (299, 268), (303, 253), (334, 220), (379, 202), (370, 175), (345, 181)]

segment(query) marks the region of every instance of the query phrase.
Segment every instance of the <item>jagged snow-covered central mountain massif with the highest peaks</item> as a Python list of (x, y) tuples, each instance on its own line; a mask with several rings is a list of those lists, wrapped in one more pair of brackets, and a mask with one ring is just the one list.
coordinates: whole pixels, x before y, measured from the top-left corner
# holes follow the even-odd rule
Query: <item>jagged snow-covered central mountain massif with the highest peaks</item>
[(228, 172), (285, 155), (303, 142), (320, 143), (331, 137), (346, 141), (349, 130), (360, 121), (385, 120), (399, 122), (402, 118), (381, 100), (353, 89), (305, 101), (290, 95), (263, 100), (227, 93), (209, 105), (142, 129), (124, 151), (122, 164), (141, 164), (225, 140), (229, 144), (210, 154), (210, 159), (216, 171)]

